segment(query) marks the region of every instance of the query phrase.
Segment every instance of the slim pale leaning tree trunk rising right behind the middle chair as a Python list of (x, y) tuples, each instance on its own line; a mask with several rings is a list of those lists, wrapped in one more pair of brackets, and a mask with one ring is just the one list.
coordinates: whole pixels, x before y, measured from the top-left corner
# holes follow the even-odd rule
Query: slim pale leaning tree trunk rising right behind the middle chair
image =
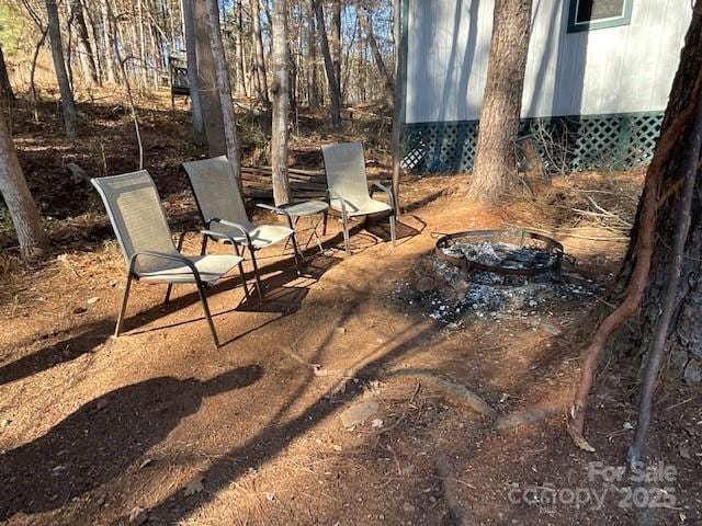
[(222, 117), (224, 122), (224, 133), (226, 137), (226, 153), (229, 164), (234, 171), (236, 183), (241, 188), (241, 160), (239, 153), (239, 139), (237, 137), (237, 122), (234, 115), (234, 103), (231, 102), (231, 84), (229, 83), (229, 68), (227, 57), (224, 54), (222, 42), (222, 31), (219, 30), (218, 0), (206, 0), (207, 22), (210, 24), (210, 45), (215, 64), (217, 76), (217, 92), (222, 106)]

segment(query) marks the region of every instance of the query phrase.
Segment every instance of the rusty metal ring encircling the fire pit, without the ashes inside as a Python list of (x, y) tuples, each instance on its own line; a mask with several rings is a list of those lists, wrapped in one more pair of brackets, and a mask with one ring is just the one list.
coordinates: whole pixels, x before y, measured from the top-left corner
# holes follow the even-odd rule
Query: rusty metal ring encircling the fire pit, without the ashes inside
[[(512, 244), (517, 244), (519, 247), (525, 247), (526, 240), (536, 240), (543, 243), (543, 248), (539, 248), (537, 250), (542, 250), (544, 252), (550, 252), (555, 255), (555, 260), (551, 264), (547, 265), (539, 265), (532, 266), (528, 268), (511, 268), (500, 265), (486, 265), (485, 263), (479, 263), (477, 261), (469, 260), (467, 258), (456, 258), (444, 252), (444, 249), (450, 248), (452, 242), (456, 239), (465, 240), (467, 242), (472, 241), (503, 241), (509, 239), (512, 241)], [(507, 241), (505, 241), (507, 242)], [(454, 233), (445, 233), (441, 235), (437, 240), (437, 244), (434, 248), (434, 253), (438, 258), (450, 263), (454, 266), (463, 268), (465, 272), (469, 271), (485, 271), (492, 272), (497, 274), (506, 274), (512, 276), (536, 276), (540, 274), (545, 274), (546, 272), (555, 272), (561, 273), (561, 265), (563, 263), (563, 244), (561, 244), (555, 239), (552, 239), (547, 236), (543, 236), (541, 233), (531, 232), (529, 230), (466, 230), (464, 232), (454, 232)]]

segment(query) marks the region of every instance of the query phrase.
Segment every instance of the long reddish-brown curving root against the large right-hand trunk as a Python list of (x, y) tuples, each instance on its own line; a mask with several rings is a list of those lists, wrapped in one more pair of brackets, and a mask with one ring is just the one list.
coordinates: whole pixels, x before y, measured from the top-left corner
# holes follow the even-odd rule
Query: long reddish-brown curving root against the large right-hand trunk
[(610, 335), (634, 313), (641, 305), (644, 291), (648, 284), (648, 273), (654, 251), (654, 233), (656, 230), (656, 215), (658, 208), (660, 185), (663, 180), (664, 165), (668, 161), (670, 151), (676, 146), (681, 132), (687, 126), (692, 112), (697, 108), (697, 94), (699, 92), (700, 77), (695, 81), (692, 96), (689, 103), (664, 130), (654, 158), (646, 173), (644, 183), (644, 195), (642, 197), (641, 216), (638, 218), (638, 230), (636, 236), (636, 263), (632, 271), (630, 283), (626, 287), (624, 299), (602, 321), (597, 329), (590, 345), (585, 352), (585, 362), (580, 371), (580, 384), (576, 391), (573, 407), (570, 409), (570, 422), (568, 423), (568, 434), (576, 446), (586, 451), (595, 451), (595, 448), (582, 435), (585, 427), (585, 413), (587, 411), (587, 399), (592, 388), (595, 371), (598, 358), (607, 344)]

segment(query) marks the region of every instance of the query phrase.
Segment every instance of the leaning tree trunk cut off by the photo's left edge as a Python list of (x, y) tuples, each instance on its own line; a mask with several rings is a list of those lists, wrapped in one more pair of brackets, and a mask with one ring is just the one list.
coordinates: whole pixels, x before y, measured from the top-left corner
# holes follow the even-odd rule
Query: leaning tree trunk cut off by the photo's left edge
[(10, 210), (22, 255), (42, 255), (47, 245), (46, 235), (20, 168), (18, 153), (10, 137), (10, 128), (2, 111), (0, 111), (0, 193)]

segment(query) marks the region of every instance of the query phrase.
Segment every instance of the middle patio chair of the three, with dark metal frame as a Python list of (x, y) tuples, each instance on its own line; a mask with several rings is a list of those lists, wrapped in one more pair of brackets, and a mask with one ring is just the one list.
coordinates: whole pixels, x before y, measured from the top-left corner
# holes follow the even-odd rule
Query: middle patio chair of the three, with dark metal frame
[(256, 206), (285, 216), (287, 227), (280, 225), (254, 225), (249, 220), (244, 206), (244, 198), (239, 185), (234, 179), (229, 160), (219, 156), (202, 161), (183, 162), (190, 186), (195, 196), (200, 215), (208, 235), (203, 239), (203, 253), (207, 239), (218, 242), (235, 243), (242, 248), (241, 254), (248, 248), (253, 265), (253, 277), (259, 299), (263, 299), (261, 277), (256, 260), (256, 251), (282, 241), (288, 240), (293, 244), (295, 265), (299, 272), (302, 258), (297, 248), (293, 220), (284, 208), (258, 203)]

